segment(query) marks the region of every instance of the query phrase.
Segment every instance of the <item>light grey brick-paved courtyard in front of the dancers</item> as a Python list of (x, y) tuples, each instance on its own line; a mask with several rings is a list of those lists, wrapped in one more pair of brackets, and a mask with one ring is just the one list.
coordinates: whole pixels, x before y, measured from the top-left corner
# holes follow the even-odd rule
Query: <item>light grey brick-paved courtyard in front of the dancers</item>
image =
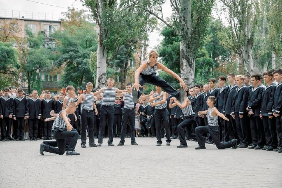
[[(80, 147), (80, 156), (39, 154), (38, 141), (0, 142), (0, 187), (282, 187), (282, 154), (251, 149), (206, 150), (156, 146), (155, 138), (136, 138), (138, 146)], [(97, 144), (97, 140), (95, 139)]]

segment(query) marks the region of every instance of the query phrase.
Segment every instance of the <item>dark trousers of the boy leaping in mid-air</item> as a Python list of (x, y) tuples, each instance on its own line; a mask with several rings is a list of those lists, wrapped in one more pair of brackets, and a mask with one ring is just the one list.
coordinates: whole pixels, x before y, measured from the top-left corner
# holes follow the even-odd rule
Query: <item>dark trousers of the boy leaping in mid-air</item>
[(164, 79), (158, 77), (155, 73), (151, 75), (143, 75), (142, 73), (139, 75), (139, 84), (142, 86), (142, 88), (139, 88), (138, 98), (143, 93), (143, 85), (145, 83), (149, 83), (152, 85), (156, 85), (164, 89), (167, 93), (170, 95), (178, 98), (179, 92), (177, 92), (171, 85), (169, 85)]

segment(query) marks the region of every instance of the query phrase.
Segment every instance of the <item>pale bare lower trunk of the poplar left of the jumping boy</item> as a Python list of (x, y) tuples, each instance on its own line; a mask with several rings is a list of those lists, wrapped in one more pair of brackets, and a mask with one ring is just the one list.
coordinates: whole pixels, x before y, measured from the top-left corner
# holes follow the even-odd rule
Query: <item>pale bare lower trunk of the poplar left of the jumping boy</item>
[(96, 73), (96, 89), (101, 89), (106, 86), (107, 82), (107, 49), (104, 44), (100, 46), (98, 42), (97, 49), (97, 73)]

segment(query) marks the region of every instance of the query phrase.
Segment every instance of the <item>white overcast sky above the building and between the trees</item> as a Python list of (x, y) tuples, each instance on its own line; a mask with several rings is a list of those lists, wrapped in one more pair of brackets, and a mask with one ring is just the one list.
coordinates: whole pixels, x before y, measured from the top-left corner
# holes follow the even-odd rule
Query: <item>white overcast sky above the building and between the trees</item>
[[(31, 0), (31, 1), (36, 1), (40, 3), (45, 3), (45, 4), (50, 4), (50, 5), (55, 5), (55, 6), (61, 6), (61, 7), (75, 7), (77, 9), (85, 9), (85, 7), (82, 6), (81, 1), (79, 0)], [(63, 11), (66, 11), (67, 9), (64, 8), (59, 8), (55, 6), (48, 6), (44, 4), (38, 4), (26, 0), (0, 0), (0, 16), (5, 15), (5, 10), (14, 10), (14, 14), (19, 14), (15, 13), (15, 11), (29, 11), (29, 12), (41, 12), (40, 15), (44, 17), (44, 13), (52, 13), (53, 17), (59, 17), (59, 14)], [(167, 0), (167, 2), (162, 6), (163, 10), (163, 16), (164, 18), (170, 17), (172, 13), (172, 9), (170, 7), (170, 3)], [(8, 11), (11, 13), (11, 11)], [(24, 12), (21, 12), (21, 14), (25, 14)], [(31, 14), (31, 13), (30, 13)], [(37, 15), (36, 14), (36, 15)], [(216, 10), (213, 12), (213, 16), (216, 16)], [(51, 16), (51, 14), (47, 14)], [(61, 18), (61, 15), (60, 15)], [(150, 49), (154, 48), (157, 46), (160, 41), (162, 40), (162, 37), (159, 36), (160, 32), (155, 30), (149, 35), (149, 48)]]

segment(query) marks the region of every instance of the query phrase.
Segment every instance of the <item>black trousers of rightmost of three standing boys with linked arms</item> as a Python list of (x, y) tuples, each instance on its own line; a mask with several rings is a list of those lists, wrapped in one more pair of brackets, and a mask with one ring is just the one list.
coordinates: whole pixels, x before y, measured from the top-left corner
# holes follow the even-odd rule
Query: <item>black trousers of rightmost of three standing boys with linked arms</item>
[(122, 126), (121, 126), (121, 134), (120, 134), (120, 142), (124, 143), (125, 140), (125, 132), (127, 124), (130, 125), (130, 135), (131, 135), (131, 143), (135, 142), (135, 109), (126, 109), (124, 108), (122, 111)]

